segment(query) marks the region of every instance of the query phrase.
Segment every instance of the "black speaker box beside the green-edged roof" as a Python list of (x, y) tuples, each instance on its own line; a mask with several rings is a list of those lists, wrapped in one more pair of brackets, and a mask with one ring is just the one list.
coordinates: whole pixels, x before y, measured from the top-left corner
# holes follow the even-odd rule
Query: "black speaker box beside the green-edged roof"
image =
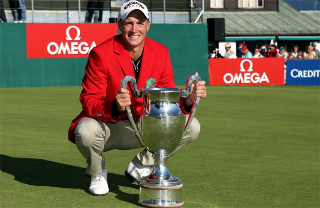
[(224, 18), (208, 18), (207, 27), (209, 42), (225, 40)]

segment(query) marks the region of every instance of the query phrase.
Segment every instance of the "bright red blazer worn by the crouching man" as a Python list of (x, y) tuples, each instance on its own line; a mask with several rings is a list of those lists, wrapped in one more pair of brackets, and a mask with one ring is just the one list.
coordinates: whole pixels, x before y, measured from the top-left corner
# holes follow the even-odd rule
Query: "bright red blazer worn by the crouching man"
[[(111, 108), (116, 98), (116, 92), (120, 89), (121, 79), (128, 75), (135, 77), (131, 57), (121, 35), (115, 35), (91, 50), (79, 98), (83, 110), (71, 122), (68, 131), (70, 141), (75, 142), (72, 136), (73, 130), (83, 117), (115, 123), (127, 115), (123, 113), (113, 119)], [(155, 87), (175, 88), (168, 49), (146, 37), (137, 82), (138, 90), (146, 87), (146, 81), (149, 78), (156, 79)], [(143, 112), (143, 98), (138, 99), (134, 96), (130, 82), (128, 90), (131, 98), (131, 112), (136, 118), (138, 112)], [(182, 104), (181, 106), (182, 111), (185, 112)]]

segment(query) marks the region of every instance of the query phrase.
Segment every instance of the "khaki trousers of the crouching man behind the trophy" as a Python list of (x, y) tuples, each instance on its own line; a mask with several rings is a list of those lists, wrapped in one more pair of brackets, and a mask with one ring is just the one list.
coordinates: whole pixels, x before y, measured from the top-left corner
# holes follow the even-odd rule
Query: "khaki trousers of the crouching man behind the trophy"
[[(186, 116), (186, 121), (189, 114)], [(170, 154), (174, 155), (186, 144), (195, 140), (200, 133), (200, 124), (196, 118), (192, 119), (189, 129), (179, 143), (178, 147)], [(103, 122), (94, 118), (85, 117), (81, 119), (74, 129), (75, 143), (86, 158), (88, 168), (86, 173), (96, 175), (101, 173), (105, 167), (105, 158), (102, 152), (113, 149), (128, 150), (143, 147), (131, 128), (128, 120), (117, 123)], [(152, 153), (144, 149), (133, 159), (138, 166), (153, 166)]]

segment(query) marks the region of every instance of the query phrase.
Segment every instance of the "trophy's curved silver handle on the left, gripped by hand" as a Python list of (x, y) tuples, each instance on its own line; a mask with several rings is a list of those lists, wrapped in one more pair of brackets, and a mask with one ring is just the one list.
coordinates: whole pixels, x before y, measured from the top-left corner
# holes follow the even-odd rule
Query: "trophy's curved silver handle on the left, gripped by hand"
[[(125, 88), (127, 89), (127, 86), (128, 86), (128, 82), (131, 82), (132, 85), (133, 85), (133, 91), (134, 91), (134, 95), (135, 97), (137, 98), (141, 98), (143, 93), (142, 91), (138, 91), (137, 89), (137, 82), (135, 81), (135, 78), (133, 76), (125, 76), (124, 78), (121, 79), (121, 88)], [(130, 109), (130, 106), (127, 105), (126, 106), (126, 111), (127, 111), (127, 115), (128, 115), (128, 119), (130, 121), (130, 124), (136, 134), (136, 136), (138, 137), (138, 139), (140, 140), (140, 142), (143, 144), (143, 146), (145, 148), (147, 148), (145, 145), (144, 145), (144, 142), (142, 141), (141, 139), (141, 136), (140, 136), (140, 133), (139, 133), (139, 130), (137, 129), (137, 126), (135, 125), (135, 122), (134, 122), (134, 119), (133, 119), (133, 116), (132, 116), (132, 112), (131, 112), (131, 109)]]

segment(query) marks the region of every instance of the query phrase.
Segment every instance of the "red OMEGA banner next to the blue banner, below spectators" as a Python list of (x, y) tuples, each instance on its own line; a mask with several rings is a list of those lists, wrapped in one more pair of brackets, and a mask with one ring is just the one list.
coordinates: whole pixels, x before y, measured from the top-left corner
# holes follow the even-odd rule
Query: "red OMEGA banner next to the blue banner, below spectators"
[(209, 85), (284, 85), (283, 58), (209, 59)]

